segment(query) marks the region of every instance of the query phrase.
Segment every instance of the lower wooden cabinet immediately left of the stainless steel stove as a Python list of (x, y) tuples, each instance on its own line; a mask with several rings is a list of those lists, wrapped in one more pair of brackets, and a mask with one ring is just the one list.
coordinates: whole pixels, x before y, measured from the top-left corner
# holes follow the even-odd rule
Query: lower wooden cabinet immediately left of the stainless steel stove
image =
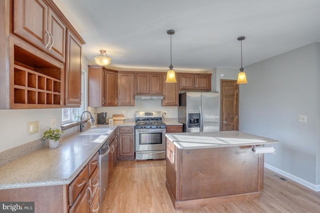
[(119, 127), (119, 145), (117, 151), (118, 160), (133, 160), (134, 159), (134, 127), (123, 126)]

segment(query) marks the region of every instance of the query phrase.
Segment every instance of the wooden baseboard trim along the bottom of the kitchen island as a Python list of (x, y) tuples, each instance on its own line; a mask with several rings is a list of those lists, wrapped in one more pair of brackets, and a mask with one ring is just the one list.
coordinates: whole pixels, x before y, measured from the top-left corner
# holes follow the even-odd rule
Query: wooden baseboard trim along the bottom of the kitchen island
[(209, 206), (214, 204), (224, 204), (224, 203), (231, 203), (231, 202), (260, 199), (260, 192), (252, 192), (252, 193), (243, 193), (238, 195), (193, 199), (193, 200), (187, 200), (187, 201), (176, 201), (167, 181), (165, 182), (165, 188), (169, 194), (169, 197), (174, 206), (174, 209), (176, 210), (198, 208), (198, 207), (204, 207), (204, 206)]

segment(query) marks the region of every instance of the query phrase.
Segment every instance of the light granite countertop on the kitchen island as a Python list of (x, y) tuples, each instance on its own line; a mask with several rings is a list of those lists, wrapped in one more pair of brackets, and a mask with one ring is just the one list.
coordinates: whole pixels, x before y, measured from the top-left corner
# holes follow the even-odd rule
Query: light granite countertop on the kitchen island
[(207, 149), (279, 143), (277, 140), (239, 131), (167, 133), (165, 136), (178, 149)]

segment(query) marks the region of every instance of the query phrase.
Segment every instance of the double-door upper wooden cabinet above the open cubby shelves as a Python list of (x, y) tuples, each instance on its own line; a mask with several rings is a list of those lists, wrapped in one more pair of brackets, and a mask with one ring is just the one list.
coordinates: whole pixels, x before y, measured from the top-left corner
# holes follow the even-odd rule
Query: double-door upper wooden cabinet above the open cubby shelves
[(64, 62), (66, 27), (42, 0), (14, 0), (13, 32)]

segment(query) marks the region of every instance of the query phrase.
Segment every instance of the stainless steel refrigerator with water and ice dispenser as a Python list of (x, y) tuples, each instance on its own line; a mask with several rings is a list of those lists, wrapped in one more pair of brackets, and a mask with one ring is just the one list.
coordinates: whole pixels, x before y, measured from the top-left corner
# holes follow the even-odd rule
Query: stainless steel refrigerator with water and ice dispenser
[(218, 92), (179, 94), (178, 122), (183, 132), (220, 131), (220, 95)]

